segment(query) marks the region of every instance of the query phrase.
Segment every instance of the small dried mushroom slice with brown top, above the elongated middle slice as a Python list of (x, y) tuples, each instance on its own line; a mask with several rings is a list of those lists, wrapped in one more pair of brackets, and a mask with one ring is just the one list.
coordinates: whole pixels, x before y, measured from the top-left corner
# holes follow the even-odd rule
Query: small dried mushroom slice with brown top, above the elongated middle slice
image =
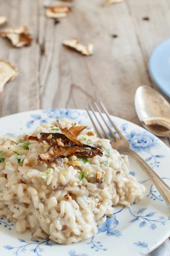
[(59, 5), (54, 7), (49, 7), (46, 9), (46, 16), (48, 18), (64, 18), (70, 13), (71, 8), (66, 5)]

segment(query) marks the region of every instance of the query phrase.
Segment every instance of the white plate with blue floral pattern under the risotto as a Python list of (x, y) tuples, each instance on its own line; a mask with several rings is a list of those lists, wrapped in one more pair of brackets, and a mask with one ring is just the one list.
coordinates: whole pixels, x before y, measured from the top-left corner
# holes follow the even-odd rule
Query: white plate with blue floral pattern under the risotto
[[(91, 122), (82, 110), (37, 110), (18, 113), (0, 119), (0, 136), (30, 133), (41, 122), (67, 117), (89, 126)], [(145, 161), (170, 186), (170, 149), (143, 128), (112, 116), (123, 134)], [(130, 159), (130, 173), (144, 184), (144, 199), (130, 209), (115, 207), (112, 218), (99, 227), (92, 239), (77, 244), (59, 245), (50, 240), (31, 239), (29, 230), (18, 234), (13, 223), (0, 218), (0, 252), (6, 256), (137, 256), (149, 253), (170, 236), (170, 210), (162, 201), (147, 176)]]

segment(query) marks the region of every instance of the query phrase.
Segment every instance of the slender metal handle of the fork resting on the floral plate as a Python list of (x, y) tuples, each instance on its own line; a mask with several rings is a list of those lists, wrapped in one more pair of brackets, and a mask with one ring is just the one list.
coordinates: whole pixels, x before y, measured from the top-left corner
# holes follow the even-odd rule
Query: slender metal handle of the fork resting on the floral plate
[(153, 169), (142, 159), (142, 157), (136, 154), (135, 151), (130, 149), (127, 154), (128, 153), (133, 156), (143, 171), (146, 172), (146, 174), (150, 177), (150, 180), (152, 180), (153, 184), (156, 186), (156, 189), (158, 189), (159, 193), (170, 209), (170, 187), (159, 177), (159, 175), (156, 174), (155, 171), (153, 171)]

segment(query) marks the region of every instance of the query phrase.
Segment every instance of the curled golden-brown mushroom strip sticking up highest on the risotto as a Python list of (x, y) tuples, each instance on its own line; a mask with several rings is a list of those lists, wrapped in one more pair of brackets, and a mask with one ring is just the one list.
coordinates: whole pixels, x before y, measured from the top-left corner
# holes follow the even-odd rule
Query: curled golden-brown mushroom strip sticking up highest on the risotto
[[(75, 143), (76, 145), (78, 145), (78, 146), (80, 146), (80, 147), (82, 147), (82, 143), (81, 143), (81, 141), (79, 141), (78, 139), (77, 139), (77, 137), (74, 135), (74, 134), (72, 134), (72, 132), (71, 132), (71, 130), (74, 130), (74, 126), (75, 125), (73, 125), (71, 128), (62, 128), (62, 126), (60, 125), (60, 123), (59, 123), (59, 119), (57, 119), (57, 125), (59, 126), (59, 129), (62, 131), (62, 133), (69, 139), (69, 140), (71, 140), (73, 143)], [(78, 126), (78, 127), (81, 127), (81, 126)], [(79, 130), (79, 132), (80, 131), (83, 131), (85, 129), (85, 126), (82, 128), (81, 127), (81, 130)], [(78, 133), (79, 133), (78, 132)]]

